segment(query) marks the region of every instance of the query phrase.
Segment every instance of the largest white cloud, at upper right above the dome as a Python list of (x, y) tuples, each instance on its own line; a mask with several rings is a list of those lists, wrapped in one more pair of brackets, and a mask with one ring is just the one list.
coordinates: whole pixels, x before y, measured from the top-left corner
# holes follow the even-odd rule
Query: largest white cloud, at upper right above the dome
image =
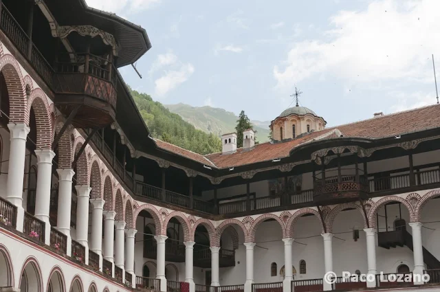
[(274, 66), (277, 88), (322, 73), (364, 84), (432, 82), (430, 56), (440, 53), (438, 11), (438, 0), (377, 0), (364, 11), (340, 11), (321, 39), (294, 43)]

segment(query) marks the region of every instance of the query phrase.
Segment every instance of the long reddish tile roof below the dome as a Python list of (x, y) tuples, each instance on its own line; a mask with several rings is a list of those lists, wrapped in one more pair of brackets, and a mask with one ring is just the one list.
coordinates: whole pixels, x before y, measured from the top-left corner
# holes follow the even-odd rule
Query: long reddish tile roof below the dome
[(322, 131), (312, 132), (309, 135), (289, 142), (257, 144), (252, 150), (248, 151), (243, 151), (242, 148), (239, 148), (236, 153), (228, 155), (212, 153), (203, 156), (160, 140), (156, 140), (156, 143), (160, 148), (199, 161), (201, 164), (215, 166), (217, 168), (229, 168), (287, 157), (289, 156), (290, 150), (296, 146), (310, 142), (312, 139), (329, 139), (340, 137), (340, 135), (344, 137), (379, 139), (438, 127), (440, 127), (440, 105), (435, 104), (410, 111), (393, 113), (391, 115), (373, 117), (369, 120), (353, 122), (333, 128), (325, 128)]

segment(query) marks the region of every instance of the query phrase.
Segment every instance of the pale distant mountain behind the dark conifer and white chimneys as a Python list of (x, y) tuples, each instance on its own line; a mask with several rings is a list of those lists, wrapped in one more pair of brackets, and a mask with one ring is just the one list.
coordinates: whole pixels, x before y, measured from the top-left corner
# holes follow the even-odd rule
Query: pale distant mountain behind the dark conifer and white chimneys
[[(196, 128), (206, 133), (213, 133), (220, 136), (221, 134), (231, 133), (235, 131), (236, 120), (238, 116), (224, 109), (214, 108), (211, 106), (190, 106), (188, 104), (165, 104), (167, 109), (172, 113), (177, 113), (186, 122), (189, 122)], [(257, 141), (263, 143), (269, 141), (267, 137), (270, 133), (270, 122), (261, 122), (252, 120), (254, 131), (256, 131)], [(239, 134), (239, 133), (237, 133)]]

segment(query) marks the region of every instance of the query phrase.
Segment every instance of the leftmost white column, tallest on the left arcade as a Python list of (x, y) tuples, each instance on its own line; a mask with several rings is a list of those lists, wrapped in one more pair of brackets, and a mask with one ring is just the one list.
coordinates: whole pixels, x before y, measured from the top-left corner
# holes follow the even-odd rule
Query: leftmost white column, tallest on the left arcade
[(23, 232), (23, 179), (26, 158), (26, 137), (30, 128), (26, 124), (8, 124), (10, 148), (8, 163), (8, 186), (6, 199), (17, 206), (17, 230)]

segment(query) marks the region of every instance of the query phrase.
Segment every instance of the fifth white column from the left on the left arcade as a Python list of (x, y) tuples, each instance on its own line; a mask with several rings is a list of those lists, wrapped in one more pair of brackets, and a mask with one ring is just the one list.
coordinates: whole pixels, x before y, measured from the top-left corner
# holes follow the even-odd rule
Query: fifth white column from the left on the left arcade
[(104, 199), (90, 199), (93, 210), (91, 211), (91, 251), (99, 255), (99, 267), (102, 271), (102, 208)]

